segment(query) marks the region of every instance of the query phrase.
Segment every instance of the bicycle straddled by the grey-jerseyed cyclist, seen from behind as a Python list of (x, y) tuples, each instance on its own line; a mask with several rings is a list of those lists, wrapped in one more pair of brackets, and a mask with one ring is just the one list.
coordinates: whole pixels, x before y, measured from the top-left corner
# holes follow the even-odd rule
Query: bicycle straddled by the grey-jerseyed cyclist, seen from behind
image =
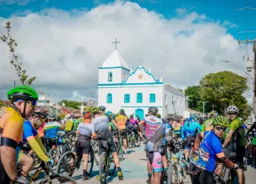
[[(107, 141), (104, 140), (104, 142), (107, 144)], [(104, 143), (103, 143), (104, 145)], [(106, 145), (106, 152), (102, 152), (100, 158), (99, 158), (99, 180), (102, 184), (106, 183), (106, 177), (108, 175), (113, 175), (115, 170), (116, 170), (116, 166), (114, 164), (114, 169), (110, 170), (111, 168), (111, 162), (114, 163), (111, 154), (110, 154), (110, 149), (109, 147)]]

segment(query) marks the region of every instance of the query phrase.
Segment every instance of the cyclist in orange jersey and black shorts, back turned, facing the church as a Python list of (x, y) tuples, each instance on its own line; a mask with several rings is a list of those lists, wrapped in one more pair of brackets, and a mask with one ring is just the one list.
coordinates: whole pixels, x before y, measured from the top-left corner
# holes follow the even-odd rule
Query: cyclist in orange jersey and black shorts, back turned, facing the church
[(114, 118), (115, 122), (118, 124), (118, 129), (122, 130), (122, 142), (124, 147), (124, 153), (127, 154), (127, 131), (126, 131), (126, 122), (129, 118), (125, 114), (125, 110), (119, 110), (119, 115)]

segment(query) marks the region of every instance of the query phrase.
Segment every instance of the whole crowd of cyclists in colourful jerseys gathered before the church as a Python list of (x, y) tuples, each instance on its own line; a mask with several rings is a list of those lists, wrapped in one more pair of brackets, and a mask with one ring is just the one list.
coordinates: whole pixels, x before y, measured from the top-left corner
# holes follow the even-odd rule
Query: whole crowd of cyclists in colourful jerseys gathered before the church
[[(82, 118), (68, 114), (64, 119), (36, 108), (37, 92), (30, 86), (17, 86), (8, 92), (11, 105), (6, 114), (0, 118), (0, 184), (28, 183), (28, 174), (34, 166), (34, 154), (46, 162), (47, 166), (56, 165), (50, 150), (56, 145), (58, 132), (74, 133), (75, 145), (72, 152), (82, 153), (82, 180), (90, 179), (88, 161), (94, 152), (92, 140), (98, 141), (99, 154), (110, 151), (119, 180), (122, 174), (115, 134), (122, 136), (124, 154), (128, 154), (127, 136), (130, 132), (145, 142), (147, 183), (159, 184), (168, 180), (168, 170), (172, 153), (177, 150), (176, 141), (184, 142), (182, 154), (186, 165), (186, 173), (190, 174), (192, 183), (216, 183), (215, 176), (222, 170), (236, 170), (238, 183), (244, 184), (244, 155), (247, 151), (246, 132), (252, 138), (249, 158), (255, 157), (256, 134), (255, 123), (246, 130), (239, 118), (237, 106), (227, 108), (227, 117), (211, 111), (208, 118), (190, 114), (183, 119), (178, 114), (166, 114), (164, 118), (158, 114), (157, 107), (150, 107), (148, 114), (141, 120), (131, 114), (126, 116), (125, 110), (118, 114), (105, 113), (106, 107), (94, 107), (84, 111)], [(62, 140), (62, 154), (68, 148), (68, 142)], [(176, 151), (177, 152), (177, 151)], [(232, 162), (231, 162), (232, 161)], [(18, 166), (22, 166), (18, 172)], [(256, 162), (254, 162), (256, 168)], [(97, 176), (100, 180), (100, 176)], [(178, 182), (179, 183), (179, 182)]]

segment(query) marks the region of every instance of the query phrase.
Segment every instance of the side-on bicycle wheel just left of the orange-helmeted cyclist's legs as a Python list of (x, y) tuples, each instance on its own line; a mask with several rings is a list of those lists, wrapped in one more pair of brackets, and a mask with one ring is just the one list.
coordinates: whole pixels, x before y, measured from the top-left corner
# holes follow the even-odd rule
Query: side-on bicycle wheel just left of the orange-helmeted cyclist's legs
[(66, 152), (58, 160), (56, 173), (71, 177), (74, 174), (75, 162), (76, 162), (76, 159), (75, 159), (74, 153), (71, 151)]

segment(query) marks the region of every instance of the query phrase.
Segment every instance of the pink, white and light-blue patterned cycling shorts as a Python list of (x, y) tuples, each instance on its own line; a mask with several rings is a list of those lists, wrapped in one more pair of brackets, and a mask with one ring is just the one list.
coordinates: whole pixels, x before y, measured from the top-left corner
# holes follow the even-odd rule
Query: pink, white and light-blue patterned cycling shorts
[(159, 152), (146, 151), (146, 158), (149, 159), (154, 173), (162, 172), (162, 155)]

